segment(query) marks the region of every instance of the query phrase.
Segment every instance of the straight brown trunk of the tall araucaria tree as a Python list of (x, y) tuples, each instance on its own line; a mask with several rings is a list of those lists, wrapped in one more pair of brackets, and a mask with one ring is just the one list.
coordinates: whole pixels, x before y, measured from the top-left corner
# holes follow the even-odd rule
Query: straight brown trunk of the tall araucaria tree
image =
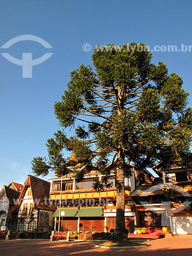
[(124, 189), (124, 157), (122, 152), (119, 153), (118, 167), (117, 167), (117, 197), (116, 197), (116, 227), (115, 227), (115, 240), (121, 241), (127, 238), (125, 232), (125, 189)]

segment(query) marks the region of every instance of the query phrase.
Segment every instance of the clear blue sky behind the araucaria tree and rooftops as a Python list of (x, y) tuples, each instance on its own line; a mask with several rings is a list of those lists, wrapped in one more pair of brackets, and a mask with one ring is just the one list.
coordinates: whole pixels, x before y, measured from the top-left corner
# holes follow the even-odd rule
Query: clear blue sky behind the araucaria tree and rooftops
[[(0, 53), (20, 59), (23, 53), (32, 53), (33, 59), (47, 52), (53, 55), (33, 66), (32, 78), (23, 78), (22, 67), (0, 54), (0, 187), (10, 181), (24, 183), (33, 157), (47, 155), (46, 140), (59, 129), (54, 102), (66, 89), (70, 71), (81, 63), (91, 64), (96, 45), (145, 42), (153, 50), (154, 63), (161, 60), (169, 73), (183, 77), (192, 106), (192, 47), (191, 51), (184, 47), (192, 45), (191, 7), (191, 1), (1, 0), (0, 47), (16, 36), (31, 34), (53, 49), (20, 41), (0, 48)], [(83, 51), (84, 44), (92, 50)], [(180, 51), (170, 52), (168, 46)], [(46, 179), (51, 177), (53, 173)]]

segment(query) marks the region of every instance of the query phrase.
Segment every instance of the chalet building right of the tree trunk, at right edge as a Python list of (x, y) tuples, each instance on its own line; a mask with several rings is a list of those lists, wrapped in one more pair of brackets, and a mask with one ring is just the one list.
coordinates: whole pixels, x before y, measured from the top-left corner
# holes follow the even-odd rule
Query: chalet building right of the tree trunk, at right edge
[[(175, 167), (157, 182), (145, 180), (131, 193), (137, 227), (170, 226), (174, 234), (192, 234), (191, 195), (192, 168)], [(170, 201), (169, 205), (166, 205), (167, 201)]]

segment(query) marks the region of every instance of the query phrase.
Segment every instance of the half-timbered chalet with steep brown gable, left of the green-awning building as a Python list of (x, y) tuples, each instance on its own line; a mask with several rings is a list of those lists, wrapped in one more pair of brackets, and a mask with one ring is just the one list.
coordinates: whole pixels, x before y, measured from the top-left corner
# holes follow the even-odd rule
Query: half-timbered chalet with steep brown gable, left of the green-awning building
[(28, 175), (15, 206), (18, 230), (52, 229), (55, 205), (49, 201), (49, 192), (50, 182)]

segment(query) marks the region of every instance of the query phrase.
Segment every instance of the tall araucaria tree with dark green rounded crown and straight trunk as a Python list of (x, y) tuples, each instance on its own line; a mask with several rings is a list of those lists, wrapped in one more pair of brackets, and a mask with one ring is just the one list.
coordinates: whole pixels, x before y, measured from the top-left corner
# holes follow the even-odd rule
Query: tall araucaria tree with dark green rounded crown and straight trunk
[[(62, 99), (55, 103), (55, 115), (64, 129), (48, 139), (49, 158), (36, 157), (36, 175), (49, 170), (77, 181), (91, 170), (102, 174), (94, 189), (109, 187), (116, 175), (116, 239), (126, 237), (124, 222), (124, 178), (133, 168), (142, 172), (155, 167), (159, 172), (177, 163), (190, 162), (192, 111), (182, 78), (168, 74), (161, 61), (151, 63), (145, 44), (98, 46), (92, 55), (93, 67), (81, 65), (71, 72)], [(73, 157), (65, 158), (67, 150)], [(69, 166), (84, 166), (69, 168)]]

